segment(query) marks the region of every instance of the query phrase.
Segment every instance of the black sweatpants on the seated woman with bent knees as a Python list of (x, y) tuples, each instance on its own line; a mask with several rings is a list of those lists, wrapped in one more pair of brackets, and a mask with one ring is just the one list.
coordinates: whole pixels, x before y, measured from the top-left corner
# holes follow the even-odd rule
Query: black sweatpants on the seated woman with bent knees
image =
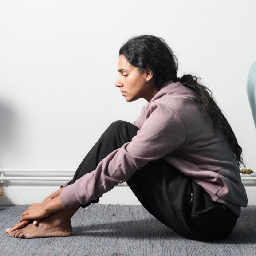
[[(68, 185), (95, 170), (112, 151), (130, 142), (138, 127), (115, 121), (91, 148)], [(171, 143), (171, 142), (170, 142)], [(150, 161), (126, 181), (143, 207), (158, 221), (181, 236), (194, 240), (217, 240), (228, 236), (236, 225), (237, 215), (226, 205), (212, 201), (204, 189), (163, 158)], [(98, 203), (91, 200), (91, 203)]]

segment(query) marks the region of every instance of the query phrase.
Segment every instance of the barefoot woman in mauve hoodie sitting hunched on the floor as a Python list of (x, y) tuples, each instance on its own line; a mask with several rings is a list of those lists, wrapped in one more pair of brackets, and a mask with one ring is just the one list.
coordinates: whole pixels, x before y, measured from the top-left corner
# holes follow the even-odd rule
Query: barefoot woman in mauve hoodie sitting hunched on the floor
[(164, 39), (129, 39), (119, 50), (115, 86), (128, 102), (146, 99), (140, 116), (133, 124), (113, 122), (73, 179), (28, 207), (9, 235), (71, 236), (70, 219), (79, 207), (98, 203), (126, 181), (142, 205), (181, 236), (228, 236), (248, 202), (239, 170), (242, 149), (208, 88), (195, 76), (178, 78), (177, 70)]

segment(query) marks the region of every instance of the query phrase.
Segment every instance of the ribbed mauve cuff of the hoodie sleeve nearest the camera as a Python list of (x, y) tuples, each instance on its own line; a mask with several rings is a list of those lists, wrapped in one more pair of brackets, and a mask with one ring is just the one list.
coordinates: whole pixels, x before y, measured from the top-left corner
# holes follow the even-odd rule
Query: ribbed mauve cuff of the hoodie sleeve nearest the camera
[(68, 185), (60, 192), (60, 201), (65, 209), (70, 209), (76, 205), (81, 205), (75, 195), (75, 183)]

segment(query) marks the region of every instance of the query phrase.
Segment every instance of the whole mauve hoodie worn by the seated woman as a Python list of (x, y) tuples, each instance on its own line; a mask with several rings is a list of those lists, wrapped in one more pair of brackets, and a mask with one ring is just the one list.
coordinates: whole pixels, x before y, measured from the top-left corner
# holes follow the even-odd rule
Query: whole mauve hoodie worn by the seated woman
[(91, 173), (60, 186), (63, 207), (84, 205), (129, 180), (150, 161), (164, 158), (240, 217), (248, 198), (236, 157), (209, 115), (202, 117), (199, 106), (192, 89), (167, 81), (142, 107), (134, 122), (140, 130), (130, 142), (103, 158)]

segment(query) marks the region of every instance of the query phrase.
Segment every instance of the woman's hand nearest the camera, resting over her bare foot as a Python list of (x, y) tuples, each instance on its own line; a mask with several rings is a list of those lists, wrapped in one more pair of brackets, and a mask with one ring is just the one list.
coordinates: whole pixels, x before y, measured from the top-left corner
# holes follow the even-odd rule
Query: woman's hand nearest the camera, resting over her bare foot
[(47, 211), (47, 202), (42, 203), (32, 203), (28, 209), (26, 209), (22, 214), (19, 222), (24, 220), (32, 220), (32, 219), (39, 219), (45, 218), (49, 216), (51, 212)]

